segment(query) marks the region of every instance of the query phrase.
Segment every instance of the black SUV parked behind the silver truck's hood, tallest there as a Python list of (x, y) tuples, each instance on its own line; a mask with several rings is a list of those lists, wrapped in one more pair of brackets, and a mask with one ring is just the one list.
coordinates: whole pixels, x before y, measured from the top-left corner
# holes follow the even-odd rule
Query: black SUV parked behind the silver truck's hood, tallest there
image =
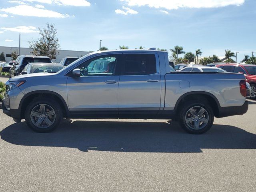
[(29, 63), (51, 63), (47, 56), (21, 55), (18, 56), (12, 68), (10, 68), (10, 78), (19, 75), (24, 67)]

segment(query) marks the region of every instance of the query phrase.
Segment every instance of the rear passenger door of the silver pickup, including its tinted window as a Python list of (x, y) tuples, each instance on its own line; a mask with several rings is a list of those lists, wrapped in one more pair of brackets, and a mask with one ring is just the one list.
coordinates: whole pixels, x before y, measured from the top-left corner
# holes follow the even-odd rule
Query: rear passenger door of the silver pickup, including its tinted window
[(160, 108), (158, 54), (123, 53), (118, 86), (119, 114), (156, 114)]

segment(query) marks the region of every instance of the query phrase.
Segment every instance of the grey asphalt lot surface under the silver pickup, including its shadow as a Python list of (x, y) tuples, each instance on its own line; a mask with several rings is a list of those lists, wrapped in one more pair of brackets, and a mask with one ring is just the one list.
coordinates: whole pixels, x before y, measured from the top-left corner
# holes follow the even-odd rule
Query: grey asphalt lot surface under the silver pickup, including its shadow
[(256, 191), (256, 102), (190, 135), (167, 120), (63, 120), (32, 132), (0, 111), (0, 191)]

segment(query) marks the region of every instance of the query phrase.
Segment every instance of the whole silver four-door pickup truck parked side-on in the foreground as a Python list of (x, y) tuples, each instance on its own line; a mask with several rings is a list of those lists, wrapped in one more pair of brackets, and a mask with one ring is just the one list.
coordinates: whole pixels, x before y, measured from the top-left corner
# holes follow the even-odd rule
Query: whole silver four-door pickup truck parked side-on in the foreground
[(168, 52), (114, 50), (90, 53), (56, 73), (6, 82), (3, 112), (37, 132), (62, 118), (178, 120), (192, 134), (217, 118), (248, 110), (243, 74), (176, 72)]

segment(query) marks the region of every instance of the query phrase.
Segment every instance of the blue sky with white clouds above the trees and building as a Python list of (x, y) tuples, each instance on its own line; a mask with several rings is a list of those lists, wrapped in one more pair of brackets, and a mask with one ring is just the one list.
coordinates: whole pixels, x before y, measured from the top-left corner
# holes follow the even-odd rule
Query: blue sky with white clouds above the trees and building
[[(200, 48), (202, 56), (225, 49), (256, 51), (255, 0), (0, 0), (0, 46), (22, 47), (38, 27), (55, 23), (63, 50)], [(255, 54), (256, 55), (256, 54)]]

